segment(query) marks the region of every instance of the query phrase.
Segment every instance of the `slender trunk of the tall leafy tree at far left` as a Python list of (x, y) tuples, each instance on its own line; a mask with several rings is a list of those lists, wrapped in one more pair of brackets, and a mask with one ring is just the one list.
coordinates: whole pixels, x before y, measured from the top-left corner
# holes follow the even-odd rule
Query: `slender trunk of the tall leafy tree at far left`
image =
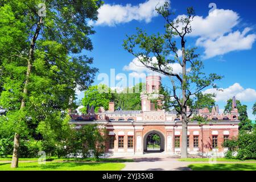
[[(38, 39), (38, 35), (41, 29), (41, 25), (43, 23), (43, 19), (42, 17), (40, 17), (39, 21), (38, 21), (38, 25), (36, 27), (36, 31), (35, 34), (33, 36), (33, 39), (31, 40), (31, 44), (30, 44), (30, 52), (28, 53), (28, 60), (27, 60), (27, 73), (26, 73), (26, 81), (24, 84), (24, 88), (23, 88), (23, 98), (21, 101), (21, 105), (20, 105), (20, 110), (23, 110), (25, 107), (25, 98), (27, 96), (27, 85), (28, 85), (28, 81), (29, 81), (29, 77), (30, 77), (30, 73), (31, 73), (31, 68), (32, 68), (32, 60), (33, 60), (33, 54), (34, 54), (34, 48), (35, 48), (35, 42), (36, 39)], [(19, 162), (19, 134), (15, 133), (14, 135), (14, 148), (13, 148), (13, 159), (11, 160), (11, 168), (18, 168), (18, 162)]]

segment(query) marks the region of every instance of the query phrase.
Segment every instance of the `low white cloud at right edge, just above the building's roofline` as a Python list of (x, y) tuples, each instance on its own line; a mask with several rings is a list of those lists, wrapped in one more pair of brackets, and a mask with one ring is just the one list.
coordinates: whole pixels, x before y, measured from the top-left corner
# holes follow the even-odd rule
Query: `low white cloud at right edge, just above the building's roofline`
[[(223, 90), (223, 91), (221, 91)], [(216, 94), (216, 101), (227, 101), (232, 97), (236, 97), (240, 101), (255, 101), (256, 100), (256, 90), (251, 88), (243, 88), (240, 84), (235, 83), (228, 88), (222, 88), (221, 90), (207, 89), (204, 93), (214, 93)]]

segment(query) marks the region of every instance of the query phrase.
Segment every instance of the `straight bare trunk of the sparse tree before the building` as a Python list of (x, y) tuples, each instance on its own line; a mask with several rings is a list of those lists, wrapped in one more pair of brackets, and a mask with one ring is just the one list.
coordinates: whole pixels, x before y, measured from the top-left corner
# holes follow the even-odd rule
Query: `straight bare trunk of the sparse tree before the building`
[(187, 73), (186, 73), (186, 57), (185, 57), (185, 41), (181, 39), (181, 51), (182, 51), (182, 76), (183, 82), (181, 85), (182, 90), (182, 108), (181, 108), (181, 121), (182, 121), (182, 139), (181, 139), (181, 158), (188, 158), (187, 150), (187, 131), (188, 131), (188, 122), (187, 122)]

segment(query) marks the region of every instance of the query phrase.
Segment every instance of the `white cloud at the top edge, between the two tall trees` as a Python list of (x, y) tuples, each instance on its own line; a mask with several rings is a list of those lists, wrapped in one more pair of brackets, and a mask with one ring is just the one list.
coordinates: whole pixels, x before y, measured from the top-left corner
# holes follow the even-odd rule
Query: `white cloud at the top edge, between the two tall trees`
[[(162, 6), (164, 2), (169, 0), (148, 0), (139, 5), (132, 6), (131, 4), (109, 5), (105, 4), (98, 10), (98, 20), (95, 25), (115, 26), (119, 23), (127, 23), (132, 20), (151, 22), (151, 19), (158, 16), (155, 11), (155, 6)], [(93, 24), (90, 22), (90, 24)]]

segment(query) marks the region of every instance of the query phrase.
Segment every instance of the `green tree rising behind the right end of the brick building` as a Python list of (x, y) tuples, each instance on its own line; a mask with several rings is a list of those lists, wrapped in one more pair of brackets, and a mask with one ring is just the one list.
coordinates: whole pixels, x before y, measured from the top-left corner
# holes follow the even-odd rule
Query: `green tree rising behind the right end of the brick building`
[[(224, 113), (230, 113), (230, 111), (232, 110), (232, 98), (230, 98), (227, 102), (226, 102), (226, 106), (224, 109)], [(240, 120), (239, 123), (239, 131), (243, 132), (243, 131), (251, 131), (253, 129), (253, 123), (251, 122), (251, 120), (248, 118), (248, 114), (247, 114), (247, 106), (246, 105), (242, 105), (240, 100), (236, 100), (237, 102), (237, 109), (238, 109), (238, 120)]]

